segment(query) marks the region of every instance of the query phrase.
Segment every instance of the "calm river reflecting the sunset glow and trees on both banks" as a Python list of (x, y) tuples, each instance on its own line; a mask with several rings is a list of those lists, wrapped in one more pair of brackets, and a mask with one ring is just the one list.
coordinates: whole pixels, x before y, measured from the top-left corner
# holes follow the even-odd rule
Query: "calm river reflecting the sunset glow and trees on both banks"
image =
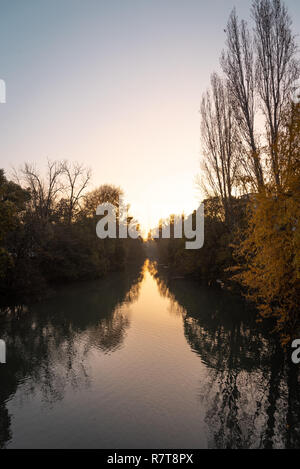
[(300, 447), (298, 367), (244, 303), (153, 263), (2, 312), (0, 448)]

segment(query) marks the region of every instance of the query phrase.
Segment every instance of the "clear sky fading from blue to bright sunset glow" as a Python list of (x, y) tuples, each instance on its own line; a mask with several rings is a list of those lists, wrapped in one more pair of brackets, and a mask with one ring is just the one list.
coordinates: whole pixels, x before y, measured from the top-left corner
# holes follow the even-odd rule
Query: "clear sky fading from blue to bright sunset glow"
[[(200, 101), (249, 0), (0, 0), (0, 167), (47, 158), (121, 186), (144, 230), (201, 194)], [(287, 0), (300, 32), (300, 2)]]

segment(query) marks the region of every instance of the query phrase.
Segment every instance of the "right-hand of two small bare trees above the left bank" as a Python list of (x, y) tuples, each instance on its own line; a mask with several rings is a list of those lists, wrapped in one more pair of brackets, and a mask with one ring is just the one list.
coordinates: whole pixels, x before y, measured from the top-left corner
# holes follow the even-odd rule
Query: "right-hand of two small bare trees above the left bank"
[(79, 163), (64, 161), (62, 172), (65, 177), (64, 205), (68, 224), (71, 224), (75, 211), (79, 207), (80, 200), (84, 197), (84, 191), (91, 179), (91, 170)]

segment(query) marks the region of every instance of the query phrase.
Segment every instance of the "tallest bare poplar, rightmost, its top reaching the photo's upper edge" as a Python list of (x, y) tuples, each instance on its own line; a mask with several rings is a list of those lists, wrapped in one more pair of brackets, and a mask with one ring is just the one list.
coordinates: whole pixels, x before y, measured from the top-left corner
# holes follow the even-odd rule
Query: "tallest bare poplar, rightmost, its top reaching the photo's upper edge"
[(278, 136), (295, 80), (299, 77), (292, 21), (281, 0), (254, 0), (256, 79), (266, 118), (274, 181), (281, 185)]

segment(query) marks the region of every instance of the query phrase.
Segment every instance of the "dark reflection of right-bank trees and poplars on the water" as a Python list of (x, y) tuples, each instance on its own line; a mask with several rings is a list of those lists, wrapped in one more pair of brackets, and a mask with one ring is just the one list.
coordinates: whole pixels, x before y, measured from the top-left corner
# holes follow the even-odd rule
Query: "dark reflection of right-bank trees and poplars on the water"
[(207, 407), (209, 446), (300, 447), (298, 367), (277, 338), (257, 325), (240, 299), (152, 266), (160, 293), (182, 311), (184, 333), (206, 365), (200, 399)]

